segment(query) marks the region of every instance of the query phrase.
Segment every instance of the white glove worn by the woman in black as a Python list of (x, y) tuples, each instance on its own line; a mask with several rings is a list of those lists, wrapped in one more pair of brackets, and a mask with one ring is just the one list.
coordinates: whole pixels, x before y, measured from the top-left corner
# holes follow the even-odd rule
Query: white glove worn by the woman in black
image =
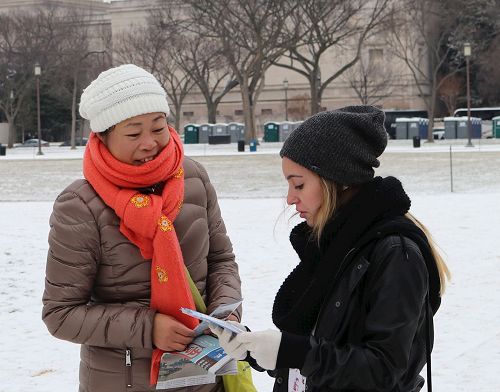
[(267, 370), (276, 368), (281, 343), (280, 331), (267, 329), (258, 332), (242, 332), (236, 335), (235, 340), (240, 342), (245, 350), (250, 351), (250, 355), (259, 366)]

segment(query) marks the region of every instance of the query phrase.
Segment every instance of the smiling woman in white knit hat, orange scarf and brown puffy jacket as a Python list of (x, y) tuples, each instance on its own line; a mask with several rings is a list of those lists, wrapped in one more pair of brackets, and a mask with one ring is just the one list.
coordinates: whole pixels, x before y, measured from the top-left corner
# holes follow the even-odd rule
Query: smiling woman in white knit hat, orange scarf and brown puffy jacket
[(168, 113), (158, 80), (132, 64), (81, 97), (85, 179), (55, 201), (43, 295), (49, 331), (81, 344), (81, 392), (155, 389), (163, 351), (193, 339), (195, 319), (179, 311), (195, 307), (189, 275), (208, 311), (241, 298), (215, 190)]

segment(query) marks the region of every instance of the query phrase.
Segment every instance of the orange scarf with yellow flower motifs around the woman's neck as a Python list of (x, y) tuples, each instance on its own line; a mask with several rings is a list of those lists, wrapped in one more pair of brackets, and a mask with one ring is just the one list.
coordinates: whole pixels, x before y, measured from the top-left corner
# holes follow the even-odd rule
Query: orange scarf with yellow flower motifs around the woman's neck
[[(120, 218), (120, 232), (140, 249), (142, 257), (152, 259), (151, 308), (193, 329), (198, 322), (179, 310), (196, 308), (173, 226), (184, 199), (184, 154), (177, 132), (168, 128), (168, 144), (155, 159), (140, 166), (117, 160), (91, 133), (83, 157), (83, 175)], [(165, 182), (161, 196), (135, 190), (159, 182)], [(162, 354), (160, 349), (153, 352), (152, 385), (158, 379)]]

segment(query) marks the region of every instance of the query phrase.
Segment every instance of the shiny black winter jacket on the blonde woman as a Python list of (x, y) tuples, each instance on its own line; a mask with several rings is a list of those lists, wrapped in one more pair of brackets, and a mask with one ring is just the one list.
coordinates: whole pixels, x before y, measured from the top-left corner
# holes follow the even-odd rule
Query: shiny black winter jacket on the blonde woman
[[(416, 244), (390, 236), (356, 255), (325, 302), (309, 341), (283, 332), (278, 366), (299, 367), (308, 391), (419, 391), (428, 279)], [(376, 267), (373, 270), (371, 264)], [(395, 279), (394, 277), (397, 277)], [(306, 352), (302, 366), (296, 352)], [(274, 391), (288, 391), (288, 368)]]

